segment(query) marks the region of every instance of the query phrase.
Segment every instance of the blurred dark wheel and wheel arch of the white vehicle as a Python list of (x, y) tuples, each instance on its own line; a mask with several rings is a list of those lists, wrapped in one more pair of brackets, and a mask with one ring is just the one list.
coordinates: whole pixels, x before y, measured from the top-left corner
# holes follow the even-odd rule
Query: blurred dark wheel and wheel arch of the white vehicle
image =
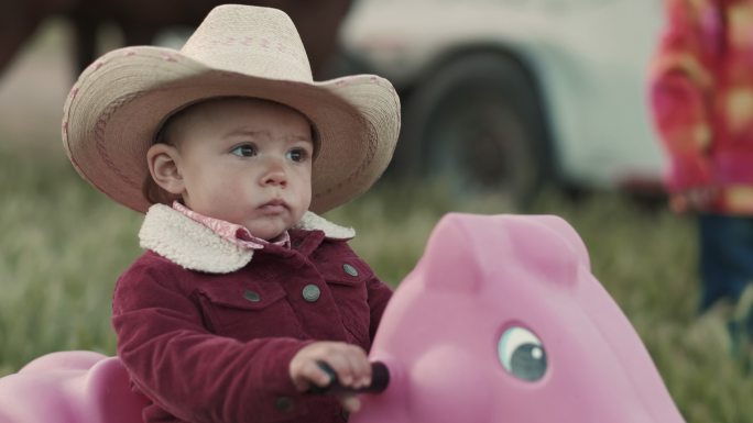
[(524, 208), (552, 175), (536, 86), (501, 54), (439, 67), (412, 91), (403, 125), (397, 172), (437, 179), (452, 194), (491, 194)]

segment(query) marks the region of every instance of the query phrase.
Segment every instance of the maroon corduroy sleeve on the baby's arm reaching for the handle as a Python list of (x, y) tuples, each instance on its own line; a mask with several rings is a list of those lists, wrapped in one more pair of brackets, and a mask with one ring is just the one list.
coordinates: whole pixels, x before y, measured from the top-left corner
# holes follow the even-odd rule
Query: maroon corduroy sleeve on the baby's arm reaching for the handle
[[(112, 323), (118, 355), (134, 385), (184, 421), (287, 420), (305, 413), (288, 376), (295, 353), (309, 342), (239, 342), (210, 334), (190, 298), (170, 285), (162, 268), (131, 268), (118, 281)], [(279, 401), (293, 401), (277, 410)]]

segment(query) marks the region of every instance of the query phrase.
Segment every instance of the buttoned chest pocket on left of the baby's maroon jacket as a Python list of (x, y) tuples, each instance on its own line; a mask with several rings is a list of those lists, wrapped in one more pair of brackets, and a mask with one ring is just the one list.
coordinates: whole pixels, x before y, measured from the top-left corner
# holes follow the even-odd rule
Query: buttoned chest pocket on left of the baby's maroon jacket
[(248, 341), (301, 334), (285, 290), (277, 283), (218, 283), (197, 293), (205, 321), (218, 335)]

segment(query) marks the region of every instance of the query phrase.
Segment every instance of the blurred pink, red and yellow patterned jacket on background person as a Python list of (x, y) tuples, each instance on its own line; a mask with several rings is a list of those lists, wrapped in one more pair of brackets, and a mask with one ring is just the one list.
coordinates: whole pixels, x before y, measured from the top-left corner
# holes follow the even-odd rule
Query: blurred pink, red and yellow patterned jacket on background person
[(753, 0), (665, 2), (651, 105), (667, 187), (718, 187), (709, 211), (753, 214)]

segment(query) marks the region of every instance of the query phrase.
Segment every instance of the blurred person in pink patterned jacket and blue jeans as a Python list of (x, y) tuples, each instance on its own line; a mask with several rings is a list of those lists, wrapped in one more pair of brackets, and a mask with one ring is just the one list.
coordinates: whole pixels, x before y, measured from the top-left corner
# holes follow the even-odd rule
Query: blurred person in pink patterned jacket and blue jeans
[(753, 0), (665, 0), (665, 13), (650, 89), (669, 203), (697, 214), (698, 311), (721, 310), (739, 352), (752, 332)]

